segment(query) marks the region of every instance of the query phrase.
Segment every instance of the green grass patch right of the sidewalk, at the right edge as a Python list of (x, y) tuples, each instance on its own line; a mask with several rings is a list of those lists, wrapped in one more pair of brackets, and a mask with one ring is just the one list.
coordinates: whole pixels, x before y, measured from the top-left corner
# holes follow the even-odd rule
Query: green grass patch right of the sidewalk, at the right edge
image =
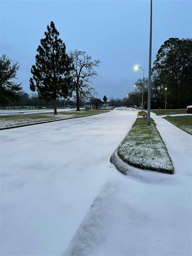
[(163, 118), (192, 135), (192, 115), (166, 116)]

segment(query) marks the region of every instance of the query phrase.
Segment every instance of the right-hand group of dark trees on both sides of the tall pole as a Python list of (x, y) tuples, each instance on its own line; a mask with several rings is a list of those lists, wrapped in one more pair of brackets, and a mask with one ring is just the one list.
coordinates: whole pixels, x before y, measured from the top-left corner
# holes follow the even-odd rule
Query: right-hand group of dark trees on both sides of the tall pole
[[(151, 109), (186, 108), (192, 105), (192, 41), (190, 38), (169, 38), (161, 45), (151, 70)], [(143, 79), (134, 83), (130, 97), (141, 98)], [(166, 90), (165, 90), (166, 88)], [(143, 103), (147, 108), (148, 79), (144, 79)], [(135, 101), (137, 102), (137, 100)], [(139, 103), (137, 103), (138, 105)], [(141, 100), (140, 100), (141, 104)]]

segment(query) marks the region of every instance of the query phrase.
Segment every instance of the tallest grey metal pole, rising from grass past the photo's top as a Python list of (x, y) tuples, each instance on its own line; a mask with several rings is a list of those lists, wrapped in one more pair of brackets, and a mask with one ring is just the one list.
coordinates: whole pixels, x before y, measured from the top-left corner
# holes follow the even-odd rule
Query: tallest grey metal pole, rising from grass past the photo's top
[(152, 0), (150, 0), (150, 32), (149, 32), (149, 84), (147, 102), (147, 125), (150, 125), (151, 111), (151, 45), (152, 45)]

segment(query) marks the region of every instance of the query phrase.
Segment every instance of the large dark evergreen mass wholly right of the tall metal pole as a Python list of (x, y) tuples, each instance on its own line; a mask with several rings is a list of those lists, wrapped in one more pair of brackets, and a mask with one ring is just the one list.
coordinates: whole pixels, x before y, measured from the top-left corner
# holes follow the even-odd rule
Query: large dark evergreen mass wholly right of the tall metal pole
[[(152, 69), (158, 97), (164, 102), (164, 88), (170, 107), (186, 107), (192, 102), (192, 41), (169, 38), (161, 45)], [(160, 100), (161, 101), (161, 100)], [(163, 103), (164, 104), (164, 103)]]

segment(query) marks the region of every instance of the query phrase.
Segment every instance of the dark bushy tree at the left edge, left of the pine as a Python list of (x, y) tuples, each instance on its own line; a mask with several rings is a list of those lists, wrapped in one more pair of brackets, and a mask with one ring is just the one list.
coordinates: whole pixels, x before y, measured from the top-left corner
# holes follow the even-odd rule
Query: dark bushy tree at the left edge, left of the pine
[(11, 60), (6, 54), (0, 57), (0, 103), (4, 106), (7, 102), (18, 99), (21, 83), (16, 83), (19, 62)]

